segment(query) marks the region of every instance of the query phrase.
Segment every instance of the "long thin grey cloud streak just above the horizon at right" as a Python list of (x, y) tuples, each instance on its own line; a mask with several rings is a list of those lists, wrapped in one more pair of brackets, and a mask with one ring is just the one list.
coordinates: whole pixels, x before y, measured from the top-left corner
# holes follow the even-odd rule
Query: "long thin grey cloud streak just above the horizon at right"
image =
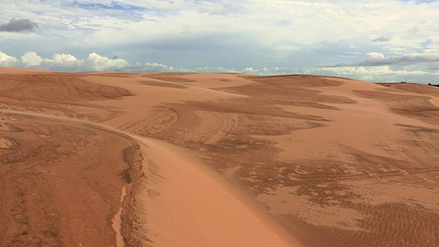
[(403, 55), (379, 57), (373, 56), (357, 62), (339, 62), (328, 66), (319, 66), (327, 68), (336, 67), (358, 67), (358, 66), (383, 66), (392, 64), (416, 64), (425, 62), (439, 62), (439, 54), (421, 54), (421, 55)]

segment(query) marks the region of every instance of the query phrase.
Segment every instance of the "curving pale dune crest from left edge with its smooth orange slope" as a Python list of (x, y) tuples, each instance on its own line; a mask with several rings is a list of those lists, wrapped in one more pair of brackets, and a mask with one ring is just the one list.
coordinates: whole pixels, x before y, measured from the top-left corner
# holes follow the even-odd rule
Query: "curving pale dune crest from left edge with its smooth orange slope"
[[(126, 135), (141, 143), (141, 149), (144, 151), (138, 158), (143, 160), (143, 157), (148, 157), (148, 161), (154, 163), (154, 167), (159, 167), (160, 171), (156, 174), (154, 169), (138, 171), (140, 174), (132, 175), (139, 177), (137, 184), (142, 187), (133, 188), (136, 186), (134, 183), (128, 183), (128, 191), (125, 185), (122, 187), (121, 207), (112, 219), (112, 228), (116, 231), (114, 246), (300, 246), (292, 237), (278, 229), (274, 222), (263, 216), (257, 208), (251, 209), (250, 202), (244, 202), (242, 198), (237, 199), (239, 193), (237, 191), (230, 193), (229, 190), (232, 188), (220, 182), (221, 178), (215, 177), (206, 167), (203, 169), (200, 161), (195, 161), (169, 143), (128, 134), (82, 119), (16, 110), (1, 110), (1, 112), (73, 121), (99, 129), (108, 129), (110, 132)], [(129, 139), (128, 144), (132, 147)], [(142, 169), (141, 165), (139, 166), (138, 169)], [(130, 173), (134, 171), (135, 168), (132, 167)], [(144, 176), (144, 172), (148, 176)], [(145, 179), (146, 177), (149, 178)], [(166, 182), (154, 183), (152, 182), (154, 180), (166, 180)], [(224, 189), (225, 187), (228, 189)], [(139, 207), (128, 209), (128, 204), (124, 203), (127, 196), (130, 196), (128, 200), (142, 204), (141, 212), (132, 212), (139, 211)], [(163, 202), (155, 202), (157, 197), (163, 197)], [(134, 219), (130, 218), (133, 217), (132, 215), (135, 215)], [(166, 217), (163, 217), (164, 215)], [(124, 224), (132, 224), (126, 222), (128, 220), (137, 223), (145, 220), (147, 224), (126, 228)], [(192, 222), (193, 220), (197, 222)], [(133, 228), (137, 227), (143, 228), (143, 231), (138, 231), (134, 235), (126, 233), (134, 231)], [(81, 231), (79, 233), (84, 234)], [(100, 243), (98, 237), (96, 240), (93, 246), (108, 246), (108, 242)], [(79, 245), (88, 246), (89, 243), (84, 241), (79, 242)]]

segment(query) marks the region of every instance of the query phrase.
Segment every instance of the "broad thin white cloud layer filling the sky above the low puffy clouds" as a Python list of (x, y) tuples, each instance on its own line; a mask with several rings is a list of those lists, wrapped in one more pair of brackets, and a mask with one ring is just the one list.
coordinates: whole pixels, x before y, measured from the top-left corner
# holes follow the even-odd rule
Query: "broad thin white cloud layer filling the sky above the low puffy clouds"
[[(314, 67), (361, 59), (348, 52), (439, 51), (437, 7), (393, 0), (6, 0), (0, 21), (25, 16), (47, 31), (5, 34), (0, 49), (45, 56), (97, 51), (142, 64), (152, 59), (143, 54), (156, 54), (156, 62), (191, 68)], [(423, 20), (422, 35), (407, 34)]]

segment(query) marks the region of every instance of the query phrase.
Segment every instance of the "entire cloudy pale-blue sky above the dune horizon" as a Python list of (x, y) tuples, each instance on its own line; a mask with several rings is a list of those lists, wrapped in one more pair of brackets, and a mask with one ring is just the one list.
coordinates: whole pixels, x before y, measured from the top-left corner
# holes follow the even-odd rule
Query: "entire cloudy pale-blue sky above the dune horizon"
[(439, 84), (439, 0), (1, 0), (0, 67)]

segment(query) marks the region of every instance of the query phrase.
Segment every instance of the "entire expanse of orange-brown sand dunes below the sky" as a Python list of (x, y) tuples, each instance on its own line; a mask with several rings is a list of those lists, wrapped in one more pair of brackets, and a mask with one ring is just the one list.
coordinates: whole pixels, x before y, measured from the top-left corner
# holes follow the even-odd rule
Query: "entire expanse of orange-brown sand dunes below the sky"
[(0, 68), (0, 246), (439, 246), (439, 89)]

